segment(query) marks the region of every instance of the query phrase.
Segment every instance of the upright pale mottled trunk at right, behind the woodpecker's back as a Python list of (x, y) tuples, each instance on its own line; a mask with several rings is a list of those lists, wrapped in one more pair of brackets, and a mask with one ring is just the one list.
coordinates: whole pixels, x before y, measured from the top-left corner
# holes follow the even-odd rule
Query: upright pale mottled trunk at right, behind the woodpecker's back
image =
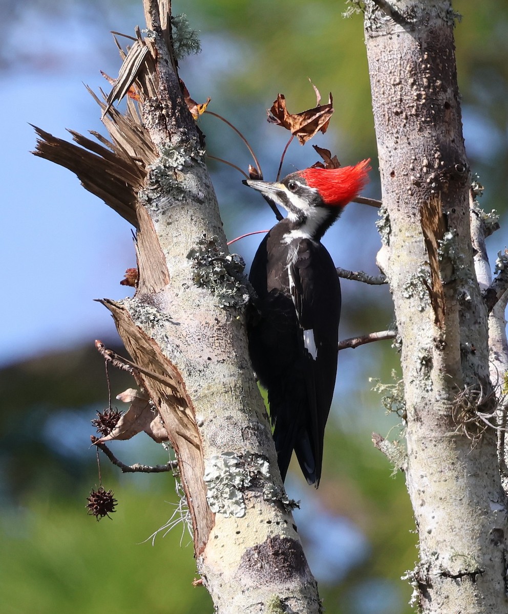
[[(389, 6), (391, 4), (391, 6)], [(421, 612), (500, 614), (506, 495), (488, 309), (471, 244), (449, 2), (367, 2), (365, 40), (383, 189), (378, 261), (402, 339), (407, 487), (420, 538), (408, 572)]]

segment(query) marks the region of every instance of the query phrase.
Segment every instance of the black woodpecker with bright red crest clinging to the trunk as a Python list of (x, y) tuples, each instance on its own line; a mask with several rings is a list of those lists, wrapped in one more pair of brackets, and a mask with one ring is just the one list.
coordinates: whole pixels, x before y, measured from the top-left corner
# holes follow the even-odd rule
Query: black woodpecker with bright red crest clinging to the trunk
[(340, 317), (340, 283), (321, 238), (364, 187), (369, 161), (307, 168), (280, 183), (244, 181), (287, 211), (252, 262), (249, 280), (257, 296), (247, 317), (249, 353), (268, 391), (282, 478), (294, 450), (316, 488), (337, 375)]

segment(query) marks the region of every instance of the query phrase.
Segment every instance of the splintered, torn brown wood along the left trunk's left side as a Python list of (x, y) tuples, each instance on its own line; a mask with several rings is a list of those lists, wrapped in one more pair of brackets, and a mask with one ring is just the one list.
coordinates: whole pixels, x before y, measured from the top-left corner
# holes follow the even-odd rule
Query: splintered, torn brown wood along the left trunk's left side
[[(154, 295), (170, 281), (154, 223), (139, 202), (139, 192), (147, 188), (150, 165), (171, 142), (172, 134), (185, 133), (186, 138), (196, 143), (199, 136), (182, 98), (176, 63), (171, 68), (172, 58), (168, 61), (171, 52), (161, 46), (161, 29), (165, 41), (171, 41), (170, 4), (167, 0), (144, 0), (144, 9), (151, 33), (142, 39), (137, 28), (136, 39), (130, 37), (133, 41), (130, 49), (123, 52), (120, 48), (123, 63), (112, 92), (109, 96), (103, 92), (96, 95), (87, 88), (100, 106), (108, 136), (92, 131), (95, 141), (72, 131), (75, 142), (69, 143), (36, 128), (39, 140), (34, 152), (76, 173), (88, 191), (136, 227), (139, 271), (136, 297)], [(133, 97), (127, 98), (127, 109), (122, 114), (114, 103), (126, 93)], [(167, 431), (178, 457), (195, 553), (199, 556), (214, 526), (215, 515), (206, 500), (202, 441), (192, 400), (178, 368), (163, 355), (149, 333), (135, 324), (128, 310), (114, 301), (100, 302), (113, 314), (133, 359), (130, 363), (135, 369), (133, 375), (163, 419), (163, 425), (157, 424), (157, 429), (161, 426)], [(147, 416), (150, 418), (150, 413)], [(147, 430), (154, 430), (151, 422)], [(157, 432), (156, 437), (163, 438), (164, 434)]]

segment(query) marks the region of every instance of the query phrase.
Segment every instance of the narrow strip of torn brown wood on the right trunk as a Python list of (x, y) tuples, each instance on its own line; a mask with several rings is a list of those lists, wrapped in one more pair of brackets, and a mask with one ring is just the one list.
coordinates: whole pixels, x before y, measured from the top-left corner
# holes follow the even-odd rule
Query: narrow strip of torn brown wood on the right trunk
[(448, 230), (440, 198), (425, 201), (420, 209), (421, 230), (431, 267), (431, 286), (424, 282), (429, 292), (434, 321), (439, 328), (445, 322), (445, 295), (440, 273), (439, 247)]

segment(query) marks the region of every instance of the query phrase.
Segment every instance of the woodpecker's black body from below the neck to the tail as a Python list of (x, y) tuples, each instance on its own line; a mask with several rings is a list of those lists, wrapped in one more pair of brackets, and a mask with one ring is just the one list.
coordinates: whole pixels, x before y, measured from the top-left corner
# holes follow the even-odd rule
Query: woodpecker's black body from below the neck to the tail
[(273, 227), (252, 262), (257, 297), (249, 308), (249, 352), (268, 391), (283, 480), (294, 449), (303, 475), (317, 486), (337, 373), (340, 283), (319, 241), (284, 243), (291, 227), (287, 218)]

